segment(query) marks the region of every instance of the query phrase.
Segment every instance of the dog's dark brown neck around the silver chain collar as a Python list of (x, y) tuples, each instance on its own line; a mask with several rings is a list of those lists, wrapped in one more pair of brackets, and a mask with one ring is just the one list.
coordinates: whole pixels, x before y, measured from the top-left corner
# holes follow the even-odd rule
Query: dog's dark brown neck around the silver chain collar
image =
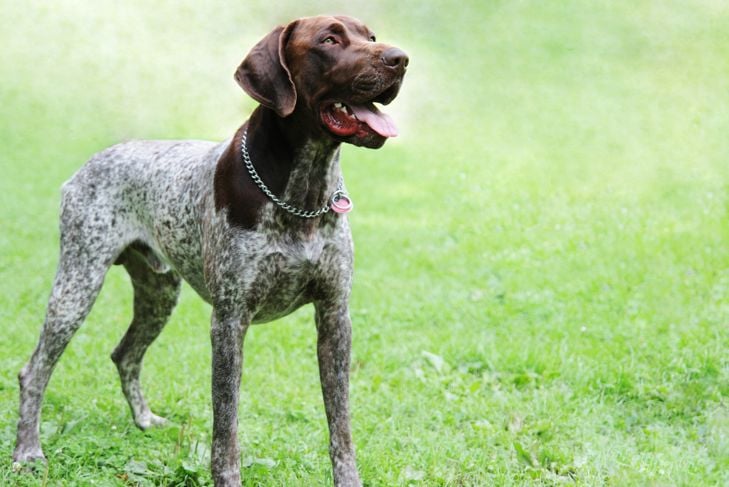
[(236, 227), (254, 229), (264, 225), (270, 230), (286, 228), (310, 233), (330, 223), (335, 214), (306, 219), (271, 205), (253, 182), (241, 156), (242, 133), (247, 130), (246, 148), (250, 159), (268, 189), (280, 200), (302, 210), (316, 210), (327, 204), (340, 177), (339, 143), (297, 127), (310, 126), (295, 112), (280, 118), (259, 106), (233, 137), (218, 161), (215, 171), (215, 206), (228, 209), (228, 222)]

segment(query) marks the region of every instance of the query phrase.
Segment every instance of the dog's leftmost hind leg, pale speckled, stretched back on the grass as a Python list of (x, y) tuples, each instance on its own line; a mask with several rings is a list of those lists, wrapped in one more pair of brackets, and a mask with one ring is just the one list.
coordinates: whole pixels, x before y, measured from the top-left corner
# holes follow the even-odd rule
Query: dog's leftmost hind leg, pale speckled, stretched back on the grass
[[(112, 264), (115, 249), (110, 241), (88, 244), (90, 228), (73, 226), (62, 232), (61, 257), (48, 300), (40, 339), (28, 363), (18, 374), (20, 419), (13, 460), (44, 460), (39, 438), (41, 402), (58, 359), (78, 330), (99, 294)], [(65, 235), (64, 235), (65, 233)]]

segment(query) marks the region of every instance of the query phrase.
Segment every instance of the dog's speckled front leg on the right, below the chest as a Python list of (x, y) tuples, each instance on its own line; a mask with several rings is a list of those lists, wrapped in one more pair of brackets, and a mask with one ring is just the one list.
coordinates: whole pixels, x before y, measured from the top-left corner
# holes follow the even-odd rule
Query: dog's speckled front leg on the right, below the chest
[(329, 423), (329, 455), (334, 485), (359, 486), (349, 425), (349, 361), (352, 323), (346, 298), (316, 303), (317, 356)]

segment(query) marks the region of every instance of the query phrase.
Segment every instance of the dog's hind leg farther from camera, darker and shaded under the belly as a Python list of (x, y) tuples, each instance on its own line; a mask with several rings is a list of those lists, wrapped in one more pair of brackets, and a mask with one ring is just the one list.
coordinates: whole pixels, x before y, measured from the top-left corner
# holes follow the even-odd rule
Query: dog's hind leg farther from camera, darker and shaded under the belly
[(134, 422), (141, 429), (166, 422), (150, 411), (142, 394), (139, 374), (144, 353), (164, 328), (180, 293), (177, 273), (173, 270), (160, 272), (165, 270), (164, 266), (150, 257), (153, 254), (148, 248), (132, 246), (120, 258), (134, 286), (134, 318), (111, 354)]

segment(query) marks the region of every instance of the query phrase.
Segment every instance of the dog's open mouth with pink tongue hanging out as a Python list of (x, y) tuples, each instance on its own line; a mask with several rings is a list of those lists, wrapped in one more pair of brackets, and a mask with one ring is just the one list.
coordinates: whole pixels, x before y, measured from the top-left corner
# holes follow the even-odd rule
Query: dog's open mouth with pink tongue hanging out
[(372, 102), (329, 103), (322, 107), (321, 119), (329, 131), (339, 137), (362, 138), (372, 133), (385, 138), (397, 136), (395, 122)]

